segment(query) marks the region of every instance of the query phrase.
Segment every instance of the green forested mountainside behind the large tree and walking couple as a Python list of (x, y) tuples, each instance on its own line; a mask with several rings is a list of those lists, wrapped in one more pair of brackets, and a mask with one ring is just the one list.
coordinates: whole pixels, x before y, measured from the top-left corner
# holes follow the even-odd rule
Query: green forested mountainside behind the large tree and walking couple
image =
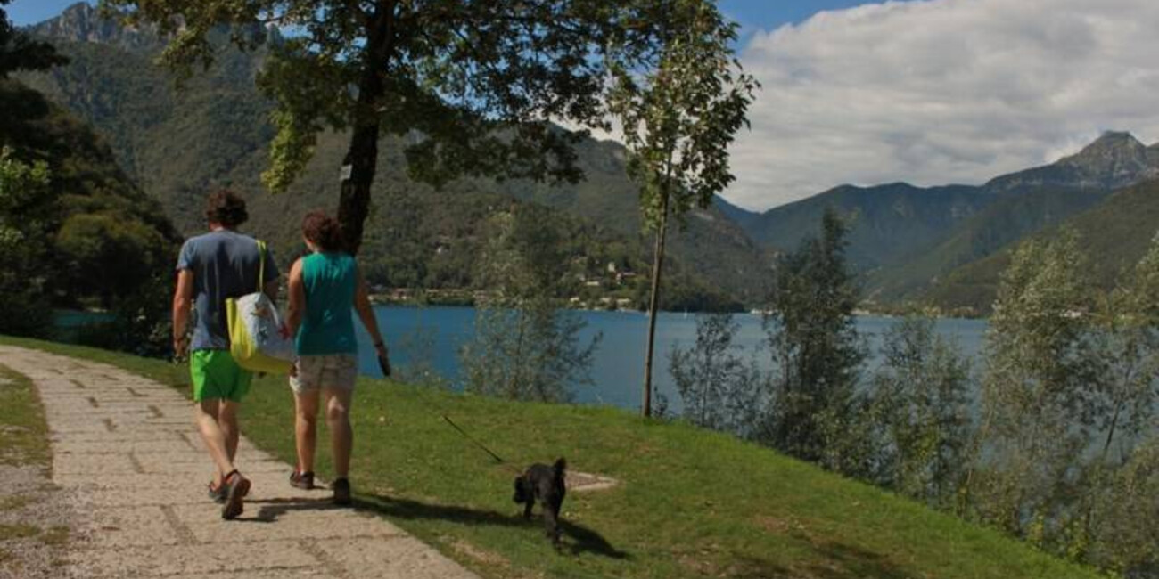
[[(322, 135), (306, 174), (286, 195), (270, 196), (258, 182), (272, 137), (270, 108), (254, 87), (263, 49), (224, 50), (207, 74), (195, 75), (177, 90), (172, 76), (153, 65), (159, 44), (147, 32), (118, 28), (86, 5), (32, 30), (72, 63), (28, 75), (27, 81), (93, 123), (183, 234), (203, 227), (202, 199), (219, 186), (249, 199), (249, 229), (286, 256), (301, 249), (300, 215), (314, 207), (336, 207), (348, 141), (341, 134)], [(269, 41), (279, 42), (279, 36), (272, 32)], [(404, 175), (399, 142), (386, 139), (363, 249), (371, 281), (471, 287), (482, 221), (511, 203), (535, 203), (554, 210), (545, 213), (545, 222), (574, 243), (577, 283), (598, 285), (618, 298), (642, 296), (642, 276), (622, 274), (647, 271), (650, 259), (636, 186), (625, 175), (624, 149), (588, 140), (577, 154), (586, 179), (575, 185), (462, 179), (433, 189)], [(666, 307), (737, 307), (764, 298), (767, 259), (719, 212), (694, 212), (672, 247), (675, 274)], [(610, 274), (610, 263), (620, 276)]]

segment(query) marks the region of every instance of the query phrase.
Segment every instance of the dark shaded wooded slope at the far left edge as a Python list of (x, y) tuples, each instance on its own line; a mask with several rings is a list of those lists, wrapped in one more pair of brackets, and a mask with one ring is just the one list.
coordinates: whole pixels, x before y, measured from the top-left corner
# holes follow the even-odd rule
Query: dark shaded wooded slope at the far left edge
[(126, 313), (121, 338), (147, 336), (147, 295), (167, 284), (180, 240), (160, 204), (92, 129), (36, 90), (0, 78), (0, 327), (43, 334), (49, 308), (87, 306)]

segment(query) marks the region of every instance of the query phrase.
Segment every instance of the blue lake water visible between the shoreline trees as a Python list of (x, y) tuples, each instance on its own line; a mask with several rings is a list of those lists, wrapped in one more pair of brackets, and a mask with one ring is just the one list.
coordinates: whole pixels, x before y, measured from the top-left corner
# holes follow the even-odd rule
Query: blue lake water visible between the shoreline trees
[[(379, 327), (391, 349), (391, 360), (395, 367), (406, 366), (417, 354), (459, 387), (459, 349), (474, 331), (475, 310), (455, 307), (402, 307), (378, 306), (374, 308)], [(648, 315), (639, 312), (577, 312), (588, 322), (583, 336), (590, 339), (597, 332), (604, 338), (595, 353), (591, 375), (593, 387), (580, 387), (573, 394), (576, 402), (608, 404), (625, 409), (640, 409), (643, 383), (643, 358), (648, 336)], [(768, 346), (761, 318), (752, 314), (738, 314), (741, 330), (735, 343), (746, 352), (757, 352), (758, 362), (770, 366)], [(870, 352), (869, 367), (876, 362), (882, 335), (899, 318), (860, 316), (858, 331), (866, 339)], [(374, 360), (370, 336), (360, 324), (359, 369), (369, 376), (381, 376)], [(961, 351), (977, 357), (982, 349), (986, 322), (982, 320), (939, 320), (935, 331), (957, 342)], [(414, 347), (417, 334), (428, 336), (429, 347)], [(697, 340), (697, 315), (662, 313), (656, 321), (656, 360), (653, 384), (657, 394), (668, 396), (673, 410), (679, 410), (680, 400), (669, 373), (669, 353), (679, 345), (687, 349)], [(759, 349), (759, 352), (756, 350)], [(423, 352), (425, 350), (425, 352)], [(654, 402), (655, 404), (655, 402)]]

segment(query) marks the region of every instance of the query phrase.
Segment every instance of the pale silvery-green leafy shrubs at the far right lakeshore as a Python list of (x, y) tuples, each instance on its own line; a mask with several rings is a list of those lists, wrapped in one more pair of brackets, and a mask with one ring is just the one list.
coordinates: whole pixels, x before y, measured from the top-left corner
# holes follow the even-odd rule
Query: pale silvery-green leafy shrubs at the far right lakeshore
[[(1159, 397), (1159, 245), (1110, 293), (1096, 291), (1077, 234), (1023, 243), (1003, 276), (983, 380), (978, 513), (1040, 547), (1103, 567), (1151, 569), (1135, 513)], [(1125, 488), (1123, 485), (1127, 485)], [(1146, 492), (1146, 491), (1144, 491)], [(1134, 515), (1129, 515), (1134, 516)], [(1128, 555), (1129, 554), (1129, 555)]]

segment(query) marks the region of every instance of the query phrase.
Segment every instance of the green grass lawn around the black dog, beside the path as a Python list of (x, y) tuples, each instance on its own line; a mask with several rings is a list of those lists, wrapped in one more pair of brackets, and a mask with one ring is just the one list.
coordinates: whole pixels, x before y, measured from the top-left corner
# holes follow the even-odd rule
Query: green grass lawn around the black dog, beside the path
[[(105, 361), (183, 391), (187, 371), (160, 360), (0, 338)], [(566, 456), (621, 483), (568, 496), (564, 548), (511, 501), (496, 464), (449, 415), (513, 466)], [(242, 432), (292, 461), (284, 379), (255, 381)], [(592, 406), (512, 403), (360, 380), (351, 481), (381, 513), (487, 577), (1080, 578), (1099, 577), (917, 503), (684, 424)], [(320, 433), (326, 435), (325, 432)], [(320, 440), (319, 475), (328, 475)], [(245, 456), (239, 460), (245, 469)]]

